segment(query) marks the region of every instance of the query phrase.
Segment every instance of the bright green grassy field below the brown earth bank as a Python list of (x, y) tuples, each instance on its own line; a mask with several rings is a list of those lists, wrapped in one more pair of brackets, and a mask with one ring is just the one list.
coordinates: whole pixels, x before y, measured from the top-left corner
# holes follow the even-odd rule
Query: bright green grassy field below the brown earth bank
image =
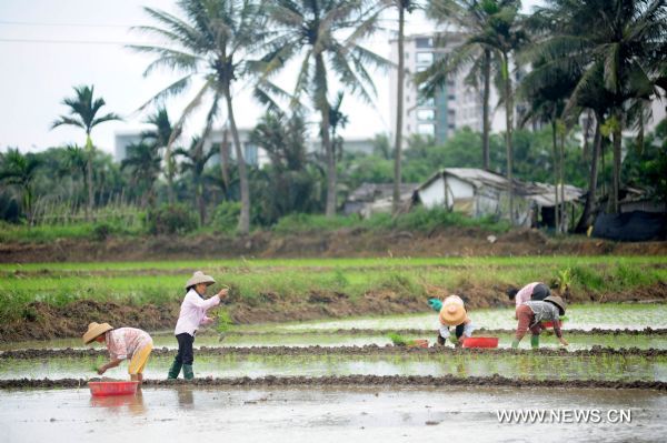
[[(621, 292), (667, 281), (665, 256), (520, 256), (440, 259), (220, 260), (163, 262), (0, 264), (0, 321), (19, 320), (33, 301), (66, 305), (77, 300), (162, 304), (182, 296), (193, 270), (232, 288), (237, 300), (261, 302), (337, 291), (355, 300), (390, 290), (425, 296), (428, 288), (506, 286), (549, 281), (569, 270), (571, 290)], [(215, 286), (216, 290), (218, 286)]]

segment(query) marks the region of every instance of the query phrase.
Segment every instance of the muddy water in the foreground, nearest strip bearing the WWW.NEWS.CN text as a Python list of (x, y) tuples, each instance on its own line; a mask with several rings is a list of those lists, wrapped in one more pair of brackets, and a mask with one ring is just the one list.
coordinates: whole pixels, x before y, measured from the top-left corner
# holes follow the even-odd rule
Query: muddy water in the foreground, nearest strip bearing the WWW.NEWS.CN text
[[(667, 433), (667, 395), (636, 390), (181, 386), (99, 400), (84, 389), (2, 391), (0, 402), (0, 440), (8, 442), (611, 442)], [(604, 422), (499, 423), (498, 411), (517, 407), (596, 410)], [(614, 411), (629, 411), (630, 421), (610, 423)]]

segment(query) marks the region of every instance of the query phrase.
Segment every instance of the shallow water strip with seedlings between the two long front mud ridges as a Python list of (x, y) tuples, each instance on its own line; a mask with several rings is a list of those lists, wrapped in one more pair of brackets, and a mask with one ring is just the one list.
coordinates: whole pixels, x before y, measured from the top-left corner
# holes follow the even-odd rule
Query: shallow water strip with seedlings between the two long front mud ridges
[[(146, 369), (147, 379), (165, 379), (171, 355), (156, 355)], [(97, 376), (93, 368), (103, 356), (0, 359), (0, 379), (79, 379)], [(196, 355), (199, 377), (261, 377), (268, 375), (456, 375), (490, 376), (496, 373), (531, 380), (610, 380), (667, 382), (667, 358), (644, 355), (520, 354), (378, 354), (378, 355)], [(127, 364), (107, 371), (109, 377), (127, 379)]]

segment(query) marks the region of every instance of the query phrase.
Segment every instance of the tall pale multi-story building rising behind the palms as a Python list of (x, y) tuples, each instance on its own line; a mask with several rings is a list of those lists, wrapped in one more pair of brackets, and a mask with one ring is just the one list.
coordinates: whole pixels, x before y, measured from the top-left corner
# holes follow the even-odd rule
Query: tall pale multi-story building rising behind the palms
[[(475, 131), (482, 129), (481, 92), (465, 82), (467, 71), (451, 75), (451, 79), (435, 94), (425, 97), (414, 81), (414, 75), (427, 69), (438, 57), (455, 51), (462, 43), (464, 37), (456, 32), (438, 34), (407, 36), (405, 38), (406, 84), (404, 89), (404, 128), (405, 137), (421, 134), (434, 137), (442, 143), (457, 129), (470, 127)], [(398, 40), (391, 40), (390, 59), (398, 63)], [(396, 82), (398, 71), (391, 70), (390, 111), (391, 122), (396, 122)], [(394, 130), (394, 128), (392, 128)]]

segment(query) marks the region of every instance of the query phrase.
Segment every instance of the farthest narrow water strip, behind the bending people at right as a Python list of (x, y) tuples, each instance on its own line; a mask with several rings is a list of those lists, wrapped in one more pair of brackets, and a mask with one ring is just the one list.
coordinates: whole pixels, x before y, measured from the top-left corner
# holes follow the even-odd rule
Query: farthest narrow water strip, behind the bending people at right
[[(478, 328), (511, 330), (517, 326), (514, 309), (488, 309), (470, 312)], [(667, 328), (667, 304), (576, 304), (567, 312), (566, 328), (589, 331), (591, 329), (645, 329)], [(421, 329), (430, 330), (438, 325), (437, 314), (384, 315), (375, 318), (352, 318), (332, 321), (247, 326), (250, 330), (273, 331), (321, 331), (339, 329)]]

